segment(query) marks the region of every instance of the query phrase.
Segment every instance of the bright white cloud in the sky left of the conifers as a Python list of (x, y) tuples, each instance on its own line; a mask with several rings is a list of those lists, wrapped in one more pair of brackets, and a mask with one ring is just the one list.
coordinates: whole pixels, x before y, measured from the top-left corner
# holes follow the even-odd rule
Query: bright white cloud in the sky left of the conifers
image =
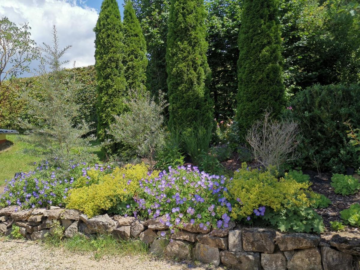
[[(38, 45), (51, 43), (51, 30), (55, 24), (60, 47), (72, 45), (64, 56), (77, 67), (95, 63), (93, 28), (98, 19), (95, 9), (79, 6), (74, 0), (1, 0), (0, 17), (6, 16), (19, 24), (28, 22), (31, 38)], [(65, 59), (64, 59), (65, 60)]]

